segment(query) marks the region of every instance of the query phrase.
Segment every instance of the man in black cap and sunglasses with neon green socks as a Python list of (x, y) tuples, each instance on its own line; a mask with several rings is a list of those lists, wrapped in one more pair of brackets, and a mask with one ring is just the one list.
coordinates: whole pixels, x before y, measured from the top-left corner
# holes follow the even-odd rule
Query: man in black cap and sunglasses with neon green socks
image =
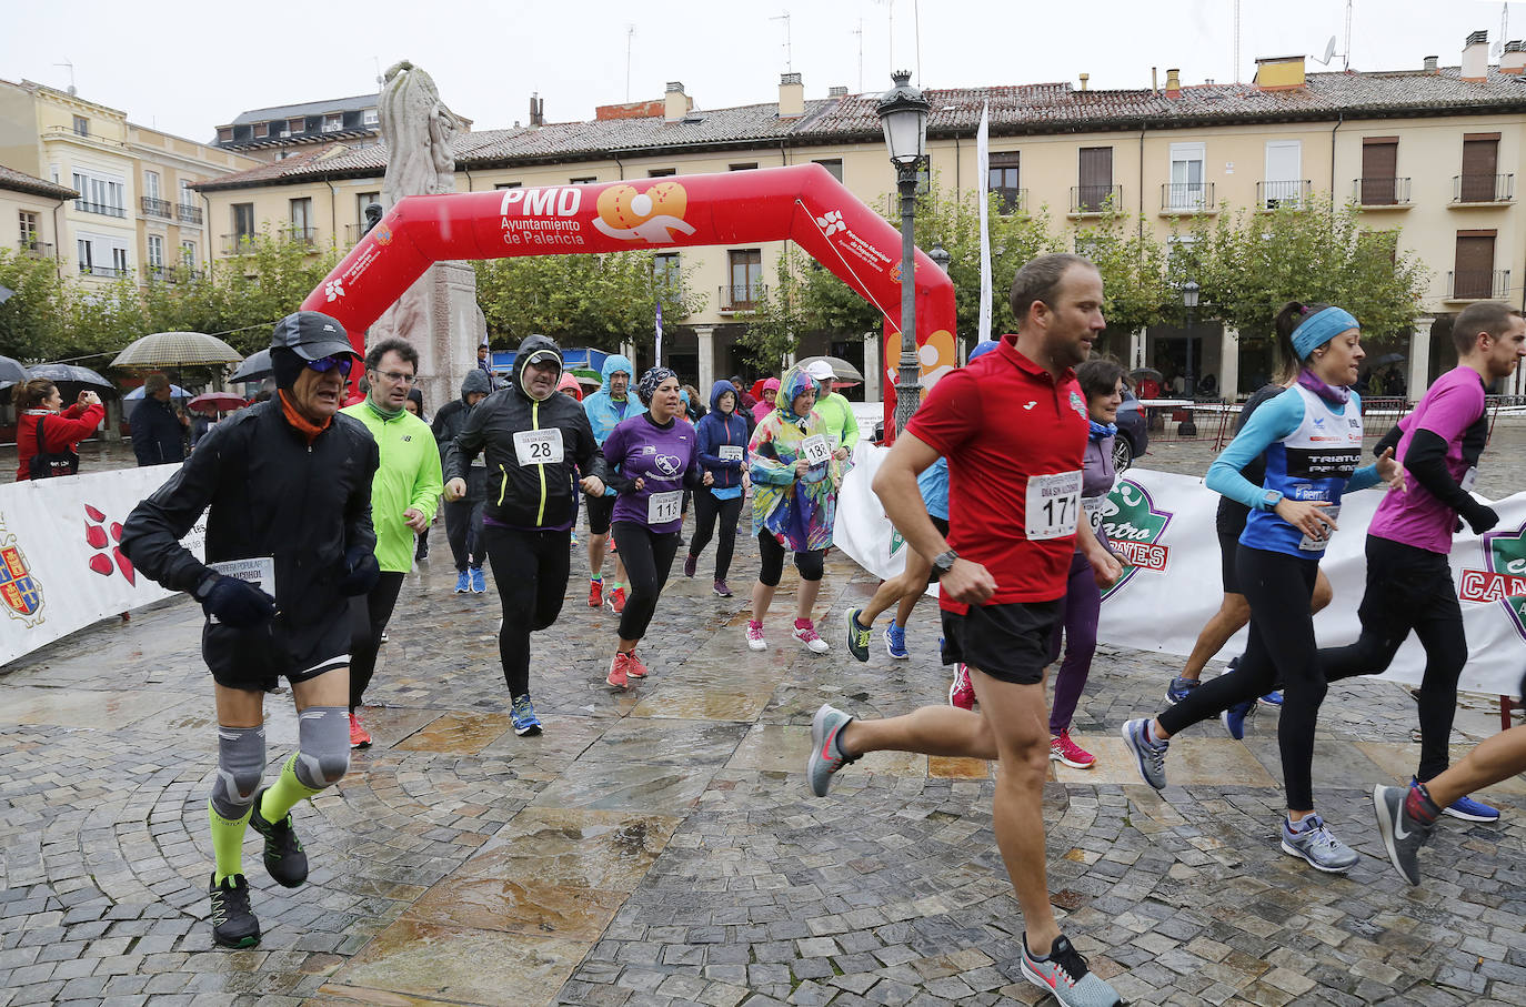
[[(139, 504), (122, 532), (137, 569), (201, 603), (201, 656), (217, 694), (218, 767), (208, 816), (212, 938), (259, 943), (241, 848), (244, 827), (266, 839), (266, 871), (296, 888), (307, 854), (291, 807), (349, 767), (349, 598), (377, 581), (371, 479), (377, 444), (336, 415), (359, 354), (327, 314), (276, 323), (276, 395), (217, 424), (169, 481)], [(180, 545), (206, 519), (206, 563)], [(291, 684), (298, 751), (276, 781), (266, 767), (264, 693)]]

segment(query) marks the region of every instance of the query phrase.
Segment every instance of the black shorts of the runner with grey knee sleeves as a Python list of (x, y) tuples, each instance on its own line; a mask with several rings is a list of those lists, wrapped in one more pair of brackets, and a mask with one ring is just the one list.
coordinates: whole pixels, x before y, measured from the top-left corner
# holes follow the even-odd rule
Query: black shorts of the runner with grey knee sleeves
[(206, 623), (201, 627), (201, 658), (212, 679), (227, 688), (250, 693), (273, 690), (287, 682), (307, 682), (325, 671), (349, 667), (349, 609), (337, 609), (331, 619), (288, 632), (276, 623), (253, 629), (233, 629)]

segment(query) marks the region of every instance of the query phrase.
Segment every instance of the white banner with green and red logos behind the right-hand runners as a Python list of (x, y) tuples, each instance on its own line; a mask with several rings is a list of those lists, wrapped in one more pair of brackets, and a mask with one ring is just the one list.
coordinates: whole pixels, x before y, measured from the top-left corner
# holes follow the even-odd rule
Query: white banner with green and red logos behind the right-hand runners
[[(833, 540), (859, 566), (893, 577), (905, 566), (906, 546), (868, 488), (884, 453), (864, 447), (862, 461), (844, 481)], [(1367, 580), (1367, 525), (1383, 493), (1376, 487), (1341, 500), (1340, 531), (1320, 565), (1335, 587), (1335, 600), (1314, 618), (1322, 647), (1354, 642), (1361, 632), (1357, 607)], [(1123, 578), (1103, 595), (1100, 641), (1172, 655), (1192, 651), (1222, 597), (1218, 504), (1219, 496), (1192, 476), (1131, 468), (1119, 481), (1103, 505), (1102, 525), (1126, 565)], [(1474, 536), (1465, 528), (1453, 539), (1453, 584), (1468, 636), (1460, 688), (1515, 696), (1526, 671), (1526, 493), (1492, 507), (1500, 514), (1494, 531)], [(1241, 630), (1219, 656), (1244, 648)], [(1383, 677), (1419, 685), (1424, 671), (1425, 651), (1412, 635)]]

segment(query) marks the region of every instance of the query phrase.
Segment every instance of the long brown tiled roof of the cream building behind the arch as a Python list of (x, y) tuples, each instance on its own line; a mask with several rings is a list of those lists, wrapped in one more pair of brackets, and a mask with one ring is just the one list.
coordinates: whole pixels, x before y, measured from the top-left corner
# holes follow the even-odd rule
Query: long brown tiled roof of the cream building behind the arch
[[(1488, 114), (1526, 111), (1526, 81), (1489, 67), (1485, 81), (1463, 81), (1459, 67), (1375, 73), (1309, 73), (1305, 87), (1260, 90), (1254, 84), (1198, 84), (1180, 98), (1164, 92), (1074, 90), (1068, 82), (1000, 87), (931, 88), (928, 134), (974, 136), (981, 107), (990, 104), (993, 136), (1111, 128), (1173, 128), (1209, 122), (1286, 122), (1376, 116)], [(575, 162), (620, 154), (728, 146), (829, 145), (881, 136), (874, 107), (879, 95), (845, 95), (806, 102), (806, 113), (778, 117), (778, 105), (693, 110), (682, 121), (661, 116), (557, 122), (536, 128), (481, 130), (456, 137), (456, 165), (464, 169), (545, 162)], [(345, 151), (325, 148), (203, 183), (200, 189), (237, 189), (272, 182), (382, 174), (386, 146)]]

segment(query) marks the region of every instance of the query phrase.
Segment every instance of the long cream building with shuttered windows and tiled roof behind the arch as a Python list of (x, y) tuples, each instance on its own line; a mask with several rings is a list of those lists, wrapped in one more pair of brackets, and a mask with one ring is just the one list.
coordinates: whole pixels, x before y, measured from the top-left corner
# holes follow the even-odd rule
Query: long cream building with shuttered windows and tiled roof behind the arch
[[(1364, 226), (1398, 232), (1428, 287), (1404, 346), (1407, 391), (1418, 395), (1450, 366), (1450, 319), (1468, 302), (1521, 304), (1526, 230), (1515, 194), (1526, 130), (1526, 50), (1506, 46), (1488, 63), (1485, 34), (1471, 35), (1459, 66), (1428, 56), (1387, 72), (1306, 73), (1302, 56), (1259, 61), (1251, 84), (1091, 90), (1080, 82), (931, 90), (931, 172), (938, 186), (978, 192), (989, 182), (1009, 212), (1044, 208), (1062, 229), (1083, 227), (1105, 206), (1138, 214), (1164, 241), (1193, 215), (1273, 209), (1320, 195), (1354, 201)], [(652, 179), (818, 162), (870, 204), (887, 206), (894, 172), (876, 116), (876, 95), (832, 88), (806, 99), (798, 73), (778, 101), (696, 110), (681, 82), (656, 102), (600, 108), (591, 122), (533, 122), (458, 137), (459, 191)], [(989, 179), (978, 177), (975, 131), (990, 110)], [(363, 209), (382, 191), (385, 145), (325, 145), (200, 186), (217, 255), (261, 226), (302, 227), (316, 246), (354, 244)], [(774, 276), (786, 243), (685, 249), (673, 264), (707, 305), (678, 337), (670, 362), (700, 388), (742, 371), (732, 345), (740, 320)], [(632, 334), (632, 342), (644, 334)], [(964, 334), (966, 340), (971, 334)], [(1180, 362), (1189, 334), (1160, 325), (1109, 334), (1131, 365)], [(1253, 391), (1265, 348), (1241, 346), (1219, 325), (1195, 327), (1198, 374), (1224, 394)], [(864, 363), (877, 395), (876, 340), (862, 333), (815, 337), (803, 352)]]

